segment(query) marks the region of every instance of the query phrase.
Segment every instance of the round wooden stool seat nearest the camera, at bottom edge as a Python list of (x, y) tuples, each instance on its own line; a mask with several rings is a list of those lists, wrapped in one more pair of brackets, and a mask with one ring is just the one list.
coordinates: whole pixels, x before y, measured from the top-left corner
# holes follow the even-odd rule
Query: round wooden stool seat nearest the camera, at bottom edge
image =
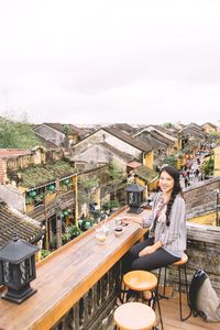
[(114, 310), (114, 322), (120, 330), (146, 330), (156, 322), (154, 310), (142, 302), (125, 302)]

